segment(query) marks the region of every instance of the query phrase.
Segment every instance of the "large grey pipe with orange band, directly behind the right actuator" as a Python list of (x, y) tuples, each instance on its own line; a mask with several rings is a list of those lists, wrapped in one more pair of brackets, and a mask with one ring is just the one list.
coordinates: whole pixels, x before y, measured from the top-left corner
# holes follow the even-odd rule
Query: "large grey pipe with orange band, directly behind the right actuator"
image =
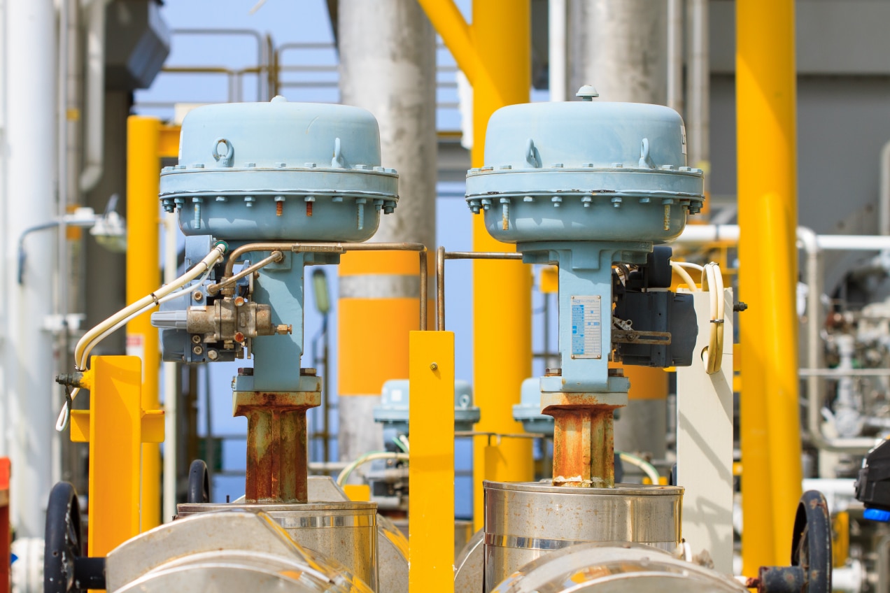
[[(676, 15), (675, 15), (676, 16)], [(668, 4), (650, 0), (571, 0), (573, 88), (593, 84), (602, 100), (667, 102)], [(672, 89), (673, 90), (673, 89)], [(615, 422), (615, 449), (663, 459), (667, 377), (658, 369), (627, 369), (627, 407)]]

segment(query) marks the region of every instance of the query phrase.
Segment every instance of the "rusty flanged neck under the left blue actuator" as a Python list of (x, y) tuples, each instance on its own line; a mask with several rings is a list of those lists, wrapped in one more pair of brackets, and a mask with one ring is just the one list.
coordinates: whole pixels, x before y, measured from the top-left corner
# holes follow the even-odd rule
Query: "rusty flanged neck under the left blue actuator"
[(306, 410), (314, 391), (239, 391), (234, 415), (247, 417), (247, 502), (308, 501)]

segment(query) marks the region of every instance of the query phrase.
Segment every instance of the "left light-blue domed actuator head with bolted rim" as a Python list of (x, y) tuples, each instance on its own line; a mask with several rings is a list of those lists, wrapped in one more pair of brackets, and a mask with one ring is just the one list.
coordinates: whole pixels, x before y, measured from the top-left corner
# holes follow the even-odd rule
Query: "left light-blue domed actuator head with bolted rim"
[(284, 97), (191, 111), (160, 188), (184, 234), (247, 241), (364, 241), (399, 199), (373, 115)]

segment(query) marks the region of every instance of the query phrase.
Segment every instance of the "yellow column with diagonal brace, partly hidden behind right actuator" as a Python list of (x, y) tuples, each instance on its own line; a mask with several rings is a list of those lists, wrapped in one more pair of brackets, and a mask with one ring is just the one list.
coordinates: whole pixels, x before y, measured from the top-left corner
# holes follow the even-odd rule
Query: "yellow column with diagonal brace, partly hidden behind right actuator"
[[(528, 0), (473, 2), (473, 40), (479, 68), (487, 76), (473, 78), (473, 150), (471, 161), (485, 161), (485, 132), (492, 113), (529, 100), (530, 4)], [(481, 74), (481, 73), (480, 73)], [(509, 249), (473, 217), (473, 250)], [(531, 373), (531, 270), (518, 261), (473, 262), (473, 391), (481, 409), (478, 429), (497, 433), (522, 430), (513, 420), (522, 381)], [(524, 481), (532, 478), (531, 445), (527, 439), (505, 438), (473, 444), (473, 517), (484, 518), (482, 479)]]

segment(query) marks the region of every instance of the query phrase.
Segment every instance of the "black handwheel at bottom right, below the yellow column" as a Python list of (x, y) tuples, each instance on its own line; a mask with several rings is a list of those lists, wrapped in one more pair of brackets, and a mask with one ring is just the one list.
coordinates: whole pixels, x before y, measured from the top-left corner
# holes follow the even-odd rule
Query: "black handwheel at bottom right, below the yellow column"
[(800, 497), (791, 538), (791, 565), (804, 569), (805, 593), (831, 591), (831, 516), (825, 497), (808, 490)]

